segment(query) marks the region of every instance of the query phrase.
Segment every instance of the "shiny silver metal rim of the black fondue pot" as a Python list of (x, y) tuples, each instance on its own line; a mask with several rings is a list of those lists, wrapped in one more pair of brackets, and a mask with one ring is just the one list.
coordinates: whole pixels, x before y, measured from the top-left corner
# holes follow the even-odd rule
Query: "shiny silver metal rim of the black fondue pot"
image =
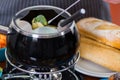
[[(27, 7), (27, 8), (24, 8), (22, 10), (20, 10), (19, 12), (16, 13), (16, 15), (13, 17), (12, 19), (12, 24), (10, 25), (11, 28), (15, 29), (18, 33), (21, 33), (23, 35), (26, 35), (26, 36), (30, 36), (30, 37), (36, 37), (36, 38), (51, 38), (51, 37), (58, 37), (58, 36), (61, 36), (61, 35), (64, 35), (66, 34), (67, 32), (71, 31), (70, 29), (73, 28), (75, 26), (75, 21), (71, 22), (70, 24), (70, 27), (71, 28), (65, 28), (61, 31), (59, 31), (58, 33), (50, 33), (49, 35), (48, 34), (40, 34), (40, 33), (33, 33), (33, 32), (29, 32), (29, 31), (25, 31), (23, 29), (21, 29), (17, 23), (16, 23), (16, 17), (22, 13), (23, 11), (26, 11), (26, 10), (39, 10), (39, 8), (45, 8), (45, 9), (57, 9), (59, 11), (63, 11), (64, 9), (62, 8), (59, 8), (59, 7), (55, 7), (55, 6), (49, 6), (49, 5), (38, 5), (38, 6), (30, 6), (30, 7)], [(70, 17), (71, 14), (68, 12), (68, 11), (65, 11), (65, 13)], [(14, 24), (14, 25), (13, 25)]]

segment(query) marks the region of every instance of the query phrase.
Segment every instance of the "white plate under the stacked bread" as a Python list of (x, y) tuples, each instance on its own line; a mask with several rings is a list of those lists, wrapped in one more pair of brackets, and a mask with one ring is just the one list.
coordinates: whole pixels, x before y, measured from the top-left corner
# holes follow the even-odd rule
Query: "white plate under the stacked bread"
[(102, 66), (99, 66), (93, 62), (90, 62), (85, 59), (79, 59), (77, 62), (75, 69), (83, 73), (85, 75), (93, 76), (93, 77), (110, 77), (111, 75), (115, 74), (116, 72), (112, 72)]

